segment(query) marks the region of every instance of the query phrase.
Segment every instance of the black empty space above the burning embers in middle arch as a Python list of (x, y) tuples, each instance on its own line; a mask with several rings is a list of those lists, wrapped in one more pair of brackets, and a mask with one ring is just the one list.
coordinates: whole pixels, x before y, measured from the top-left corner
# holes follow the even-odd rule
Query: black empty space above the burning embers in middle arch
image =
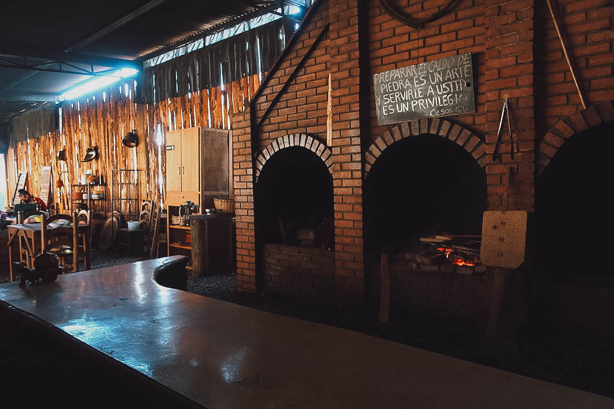
[(369, 251), (408, 247), (427, 233), (481, 234), (486, 172), (457, 143), (410, 137), (384, 151), (364, 189)]

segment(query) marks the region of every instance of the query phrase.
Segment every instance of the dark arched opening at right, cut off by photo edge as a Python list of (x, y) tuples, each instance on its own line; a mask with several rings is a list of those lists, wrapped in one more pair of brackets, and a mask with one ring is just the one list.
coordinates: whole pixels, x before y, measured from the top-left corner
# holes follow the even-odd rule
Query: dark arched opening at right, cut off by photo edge
[(553, 278), (612, 273), (612, 152), (614, 122), (565, 141), (538, 178), (537, 260)]

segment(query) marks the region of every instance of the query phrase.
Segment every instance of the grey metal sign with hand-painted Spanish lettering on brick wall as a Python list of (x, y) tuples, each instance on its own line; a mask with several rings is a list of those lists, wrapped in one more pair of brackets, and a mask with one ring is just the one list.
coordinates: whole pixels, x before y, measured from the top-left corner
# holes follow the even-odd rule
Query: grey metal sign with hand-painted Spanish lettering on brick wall
[(475, 112), (471, 53), (373, 74), (378, 124)]

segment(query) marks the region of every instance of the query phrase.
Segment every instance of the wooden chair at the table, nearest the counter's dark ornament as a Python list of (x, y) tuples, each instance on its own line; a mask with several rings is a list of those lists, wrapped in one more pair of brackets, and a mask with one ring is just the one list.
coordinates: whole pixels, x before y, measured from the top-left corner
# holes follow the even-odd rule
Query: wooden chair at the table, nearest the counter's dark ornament
[[(47, 225), (57, 220), (66, 220), (72, 223), (69, 227), (56, 227), (51, 231), (47, 231)], [(53, 215), (47, 218), (41, 216), (41, 249), (49, 251), (58, 256), (60, 266), (64, 272), (71, 268), (72, 272), (79, 271), (79, 259), (77, 258), (77, 247), (79, 243), (79, 227), (77, 222), (77, 213), (70, 215)], [(71, 258), (71, 264), (66, 262), (67, 258)]]

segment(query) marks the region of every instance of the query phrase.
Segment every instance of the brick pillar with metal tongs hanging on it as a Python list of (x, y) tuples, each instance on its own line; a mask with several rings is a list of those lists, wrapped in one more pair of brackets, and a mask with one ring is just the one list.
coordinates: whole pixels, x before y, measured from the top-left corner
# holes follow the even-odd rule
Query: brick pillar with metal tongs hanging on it
[[(511, 168), (508, 210), (533, 211), (535, 172), (533, 1), (512, 0), (486, 7), (486, 152), (488, 207), (503, 210), (503, 175)], [(500, 161), (492, 161), (503, 99), (509, 97), (514, 158), (504, 132)]]

